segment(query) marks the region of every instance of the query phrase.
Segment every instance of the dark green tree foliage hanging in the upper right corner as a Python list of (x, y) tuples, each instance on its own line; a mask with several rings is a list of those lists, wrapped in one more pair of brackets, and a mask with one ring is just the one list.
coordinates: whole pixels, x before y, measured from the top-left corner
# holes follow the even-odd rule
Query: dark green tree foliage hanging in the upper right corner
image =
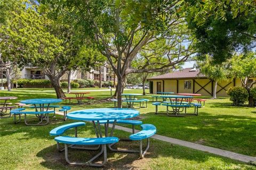
[(221, 64), (235, 52), (256, 47), (255, 1), (195, 1), (187, 11), (189, 28), (195, 33), (201, 60), (205, 55)]

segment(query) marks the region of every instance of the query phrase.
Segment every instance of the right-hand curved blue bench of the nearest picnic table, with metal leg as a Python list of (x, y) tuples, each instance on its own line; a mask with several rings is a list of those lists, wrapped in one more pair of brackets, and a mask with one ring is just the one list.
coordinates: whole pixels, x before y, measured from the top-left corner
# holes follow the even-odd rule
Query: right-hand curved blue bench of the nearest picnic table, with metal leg
[[(130, 135), (131, 140), (139, 140), (140, 141), (140, 158), (143, 158), (146, 152), (149, 149), (149, 138), (156, 134), (156, 127), (153, 124), (142, 124), (140, 125), (142, 130), (138, 133), (134, 133)], [(147, 139), (147, 147), (145, 151), (142, 150), (142, 140)]]

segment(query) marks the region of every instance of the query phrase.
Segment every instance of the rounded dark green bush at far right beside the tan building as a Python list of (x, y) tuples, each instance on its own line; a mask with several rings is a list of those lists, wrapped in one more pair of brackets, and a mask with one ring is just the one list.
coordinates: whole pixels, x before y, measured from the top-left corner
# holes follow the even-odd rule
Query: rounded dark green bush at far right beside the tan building
[(227, 94), (230, 96), (230, 100), (233, 101), (234, 106), (243, 105), (249, 97), (249, 94), (244, 87), (230, 87)]

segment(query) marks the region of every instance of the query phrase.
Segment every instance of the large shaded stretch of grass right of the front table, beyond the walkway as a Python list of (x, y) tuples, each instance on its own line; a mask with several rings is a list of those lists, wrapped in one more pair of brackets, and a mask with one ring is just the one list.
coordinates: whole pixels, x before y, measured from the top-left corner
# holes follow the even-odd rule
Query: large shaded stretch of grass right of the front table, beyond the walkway
[(154, 124), (157, 134), (200, 143), (240, 154), (256, 156), (256, 118), (250, 116), (207, 114), (172, 117), (164, 112), (147, 113), (143, 123)]

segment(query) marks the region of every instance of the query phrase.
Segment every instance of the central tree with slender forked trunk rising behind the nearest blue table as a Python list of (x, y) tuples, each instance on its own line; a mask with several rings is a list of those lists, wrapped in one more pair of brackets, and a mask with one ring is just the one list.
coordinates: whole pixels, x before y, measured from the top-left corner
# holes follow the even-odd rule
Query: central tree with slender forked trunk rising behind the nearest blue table
[[(68, 8), (58, 15), (75, 20), (82, 36), (90, 40), (107, 57), (117, 77), (118, 107), (127, 74), (155, 72), (174, 67), (191, 55), (188, 30), (183, 19), (183, 1), (42, 1), (45, 4)], [(139, 50), (158, 40), (168, 39), (169, 55), (161, 56), (168, 62), (154, 69), (131, 67)], [(187, 43), (190, 44), (190, 43)], [(116, 63), (116, 64), (114, 64)]]

